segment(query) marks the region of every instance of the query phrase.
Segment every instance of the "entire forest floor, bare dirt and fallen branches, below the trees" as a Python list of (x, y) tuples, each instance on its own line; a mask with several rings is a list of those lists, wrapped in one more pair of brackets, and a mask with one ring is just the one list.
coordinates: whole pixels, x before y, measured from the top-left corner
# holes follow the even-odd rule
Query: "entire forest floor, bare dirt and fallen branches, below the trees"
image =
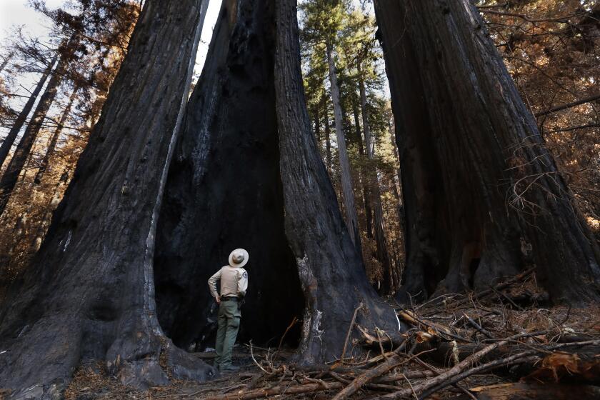
[[(351, 322), (346, 357), (303, 369), (291, 349), (237, 345), (241, 371), (204, 384), (135, 391), (82, 366), (67, 400), (91, 399), (600, 399), (600, 306), (544, 307), (534, 274), (479, 294), (398, 307), (401, 341)], [(349, 316), (350, 318), (350, 316)], [(349, 356), (353, 354), (353, 356)], [(213, 354), (198, 354), (211, 362)]]

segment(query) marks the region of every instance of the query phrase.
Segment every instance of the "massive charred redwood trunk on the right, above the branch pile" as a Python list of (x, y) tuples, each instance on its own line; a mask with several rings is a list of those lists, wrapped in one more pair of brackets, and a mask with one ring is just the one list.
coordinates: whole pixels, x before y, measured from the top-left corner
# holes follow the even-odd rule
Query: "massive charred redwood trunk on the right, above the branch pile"
[(599, 299), (597, 246), (474, 6), (375, 6), (401, 152), (404, 294), (486, 286), (521, 269), (531, 244), (554, 301)]

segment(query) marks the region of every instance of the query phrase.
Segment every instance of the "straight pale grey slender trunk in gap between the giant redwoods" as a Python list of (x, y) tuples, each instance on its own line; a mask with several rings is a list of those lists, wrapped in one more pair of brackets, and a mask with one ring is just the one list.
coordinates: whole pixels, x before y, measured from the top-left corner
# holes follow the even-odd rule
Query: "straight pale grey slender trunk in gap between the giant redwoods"
[(334, 104), (334, 119), (336, 124), (336, 138), (339, 154), (339, 169), (341, 175), (341, 191), (344, 194), (344, 208), (346, 209), (346, 225), (350, 232), (352, 243), (356, 249), (361, 247), (361, 236), (359, 234), (359, 223), (354, 206), (354, 189), (352, 187), (352, 176), (350, 161), (346, 150), (346, 138), (344, 138), (344, 126), (342, 123), (341, 104), (339, 101), (339, 87), (337, 82), (336, 66), (334, 64), (333, 46), (326, 45), (327, 65), (329, 66), (329, 84), (331, 84), (331, 101)]

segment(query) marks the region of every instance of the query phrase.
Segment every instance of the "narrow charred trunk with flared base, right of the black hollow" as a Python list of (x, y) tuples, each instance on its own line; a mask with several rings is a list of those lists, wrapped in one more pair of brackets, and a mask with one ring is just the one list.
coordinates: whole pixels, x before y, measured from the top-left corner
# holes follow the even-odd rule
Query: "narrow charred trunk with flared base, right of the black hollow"
[(402, 327), (369, 285), (361, 257), (337, 206), (306, 111), (300, 69), (296, 0), (276, 2), (275, 90), (285, 231), (306, 300), (301, 364), (341, 356), (354, 309), (358, 323), (390, 334)]

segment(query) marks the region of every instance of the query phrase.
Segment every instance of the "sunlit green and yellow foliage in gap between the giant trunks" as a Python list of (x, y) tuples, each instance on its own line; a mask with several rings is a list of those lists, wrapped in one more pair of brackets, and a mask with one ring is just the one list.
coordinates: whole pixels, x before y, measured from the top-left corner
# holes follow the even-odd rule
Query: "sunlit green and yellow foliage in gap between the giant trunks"
[[(329, 89), (326, 45), (334, 49), (336, 75), (340, 90), (343, 113), (344, 137), (352, 169), (356, 214), (361, 228), (361, 244), (367, 274), (372, 282), (381, 281), (381, 264), (376, 259), (374, 239), (367, 237), (366, 193), (370, 193), (366, 171), (376, 171), (381, 186), (381, 201), (384, 214), (388, 217), (386, 230), (391, 257), (399, 263), (402, 259), (401, 227), (399, 209), (399, 160), (391, 139), (391, 111), (386, 93), (383, 52), (376, 41), (376, 21), (364, 9), (351, 1), (307, 0), (299, 6), (301, 26), (302, 66), (306, 102), (314, 124), (321, 154), (326, 161), (327, 138), (324, 131), (329, 127), (329, 145), (334, 149), (334, 160), (330, 169), (331, 179), (338, 192), (340, 208), (341, 183), (337, 166), (334, 141), (334, 118)], [(366, 91), (366, 117), (375, 141), (375, 156), (368, 159), (362, 126), (361, 82)], [(366, 191), (365, 191), (366, 190)], [(372, 218), (372, 216), (370, 217)]]

